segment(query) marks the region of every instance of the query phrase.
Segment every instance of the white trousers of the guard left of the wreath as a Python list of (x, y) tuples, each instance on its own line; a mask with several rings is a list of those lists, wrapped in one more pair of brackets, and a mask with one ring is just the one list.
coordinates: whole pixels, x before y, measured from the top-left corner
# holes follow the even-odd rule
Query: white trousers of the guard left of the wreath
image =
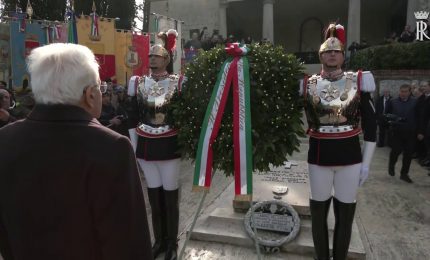
[(179, 158), (166, 161), (137, 159), (145, 175), (148, 188), (163, 186), (164, 190), (179, 188)]

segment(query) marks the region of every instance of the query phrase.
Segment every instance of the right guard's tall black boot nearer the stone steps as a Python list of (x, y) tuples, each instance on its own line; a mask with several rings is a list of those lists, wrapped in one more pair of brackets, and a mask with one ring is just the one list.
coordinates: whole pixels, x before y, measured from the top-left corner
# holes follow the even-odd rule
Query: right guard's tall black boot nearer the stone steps
[(326, 201), (310, 200), (312, 218), (312, 238), (318, 260), (330, 259), (328, 243), (327, 215), (330, 209), (331, 197)]

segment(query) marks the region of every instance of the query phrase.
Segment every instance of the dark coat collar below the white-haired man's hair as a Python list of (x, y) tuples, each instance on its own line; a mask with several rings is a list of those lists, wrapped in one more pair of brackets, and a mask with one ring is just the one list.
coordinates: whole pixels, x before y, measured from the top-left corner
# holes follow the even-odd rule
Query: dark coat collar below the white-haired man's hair
[(83, 108), (73, 105), (41, 105), (37, 104), (27, 116), (35, 121), (95, 121)]

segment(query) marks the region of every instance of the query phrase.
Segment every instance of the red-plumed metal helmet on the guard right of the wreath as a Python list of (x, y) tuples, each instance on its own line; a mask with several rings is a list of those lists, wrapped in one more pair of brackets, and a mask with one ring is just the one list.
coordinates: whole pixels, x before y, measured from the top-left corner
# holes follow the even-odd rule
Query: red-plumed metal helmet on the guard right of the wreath
[(330, 24), (325, 31), (325, 41), (321, 44), (319, 54), (326, 51), (345, 51), (345, 29), (340, 24)]

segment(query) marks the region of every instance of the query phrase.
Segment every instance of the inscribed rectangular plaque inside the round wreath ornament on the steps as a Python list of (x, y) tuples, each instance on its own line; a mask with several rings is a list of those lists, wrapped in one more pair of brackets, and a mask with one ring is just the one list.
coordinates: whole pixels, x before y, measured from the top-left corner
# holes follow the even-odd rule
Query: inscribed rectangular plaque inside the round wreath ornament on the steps
[(271, 231), (290, 233), (293, 230), (293, 217), (272, 213), (254, 212), (252, 227)]

